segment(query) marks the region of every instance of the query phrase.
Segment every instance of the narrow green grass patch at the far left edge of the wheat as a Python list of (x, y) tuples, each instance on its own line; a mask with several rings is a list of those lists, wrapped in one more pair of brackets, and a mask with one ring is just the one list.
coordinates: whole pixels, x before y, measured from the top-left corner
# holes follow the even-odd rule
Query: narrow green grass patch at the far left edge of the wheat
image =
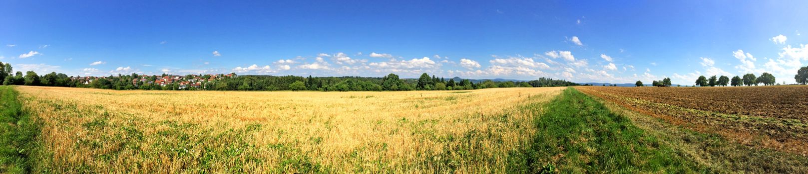
[(30, 173), (36, 160), (40, 126), (23, 111), (18, 93), (0, 86), (0, 173)]

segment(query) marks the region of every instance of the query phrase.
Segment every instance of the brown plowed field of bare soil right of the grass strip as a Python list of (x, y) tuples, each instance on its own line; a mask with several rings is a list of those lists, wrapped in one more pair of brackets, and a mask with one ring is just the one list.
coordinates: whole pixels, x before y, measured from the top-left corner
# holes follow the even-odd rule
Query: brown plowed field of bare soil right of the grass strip
[(808, 154), (808, 86), (577, 89), (739, 143)]

